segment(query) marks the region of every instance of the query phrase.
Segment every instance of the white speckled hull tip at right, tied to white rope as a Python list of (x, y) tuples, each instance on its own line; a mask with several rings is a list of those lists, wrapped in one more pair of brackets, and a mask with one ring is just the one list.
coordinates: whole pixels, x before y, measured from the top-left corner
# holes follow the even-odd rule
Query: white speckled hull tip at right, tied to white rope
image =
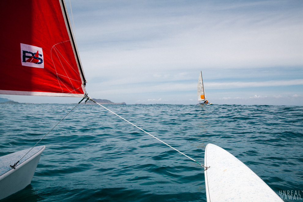
[(214, 144), (205, 148), (204, 171), (207, 202), (283, 202), (249, 167)]

